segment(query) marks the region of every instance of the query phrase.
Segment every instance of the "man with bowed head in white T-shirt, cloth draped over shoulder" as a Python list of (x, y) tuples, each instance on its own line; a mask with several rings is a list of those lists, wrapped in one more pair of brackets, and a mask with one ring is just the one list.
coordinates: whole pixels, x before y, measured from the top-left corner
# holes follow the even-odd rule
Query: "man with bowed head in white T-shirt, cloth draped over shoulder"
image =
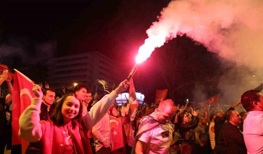
[(153, 114), (144, 117), (135, 137), (132, 153), (168, 154), (174, 128), (170, 120), (175, 112), (174, 102), (172, 100), (164, 100), (160, 102)]

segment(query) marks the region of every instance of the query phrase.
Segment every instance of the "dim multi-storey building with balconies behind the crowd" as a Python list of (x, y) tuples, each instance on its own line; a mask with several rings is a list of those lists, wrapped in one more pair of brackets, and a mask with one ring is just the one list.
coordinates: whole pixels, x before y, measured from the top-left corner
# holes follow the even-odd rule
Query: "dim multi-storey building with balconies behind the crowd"
[(52, 88), (60, 89), (73, 88), (74, 83), (82, 82), (88, 84), (92, 92), (103, 91), (98, 79), (108, 81), (111, 87), (118, 81), (116, 70), (113, 60), (96, 51), (56, 57), (50, 60), (49, 83)]

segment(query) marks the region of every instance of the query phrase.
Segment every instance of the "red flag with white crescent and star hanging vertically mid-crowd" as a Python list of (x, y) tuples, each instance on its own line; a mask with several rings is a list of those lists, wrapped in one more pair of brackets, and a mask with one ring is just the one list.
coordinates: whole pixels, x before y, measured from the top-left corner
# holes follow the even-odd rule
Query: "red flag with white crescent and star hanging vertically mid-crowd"
[(124, 147), (122, 125), (120, 118), (109, 116), (109, 125), (111, 130), (112, 148), (111, 151)]

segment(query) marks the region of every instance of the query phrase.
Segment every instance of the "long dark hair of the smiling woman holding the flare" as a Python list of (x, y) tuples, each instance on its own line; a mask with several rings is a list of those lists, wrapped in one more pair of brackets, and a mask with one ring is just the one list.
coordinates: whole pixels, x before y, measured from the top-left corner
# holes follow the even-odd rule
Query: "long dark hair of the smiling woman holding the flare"
[[(57, 125), (57, 126), (63, 126), (64, 125), (64, 117), (62, 115), (62, 105), (64, 103), (64, 101), (66, 100), (66, 98), (68, 96), (74, 96), (72, 93), (68, 93), (66, 95), (64, 95), (61, 100), (57, 103), (56, 107), (54, 108), (54, 111), (51, 115), (51, 120)], [(79, 109), (79, 113), (76, 117), (74, 117), (71, 122), (72, 122), (72, 128), (74, 129), (76, 127), (77, 123), (81, 123), (82, 120), (82, 110), (83, 110), (83, 106), (82, 106), (82, 102), (80, 102), (80, 109)]]

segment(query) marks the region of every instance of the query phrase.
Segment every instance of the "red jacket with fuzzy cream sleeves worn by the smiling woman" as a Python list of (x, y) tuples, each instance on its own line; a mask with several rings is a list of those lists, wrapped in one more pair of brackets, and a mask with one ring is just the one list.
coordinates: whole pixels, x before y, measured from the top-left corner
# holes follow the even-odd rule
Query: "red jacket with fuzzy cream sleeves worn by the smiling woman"
[[(90, 130), (109, 110), (110, 106), (118, 95), (112, 91), (109, 95), (104, 96), (91, 108), (90, 112), (83, 117), (83, 125), (86, 130), (69, 127), (75, 153), (89, 153), (85, 139), (87, 130)], [(33, 98), (31, 105), (28, 106), (19, 118), (19, 136), (26, 141), (41, 142), (40, 152), (45, 154), (62, 154), (65, 145), (65, 135), (63, 126), (56, 126), (51, 120), (40, 121), (40, 105), (42, 100)], [(80, 136), (81, 135), (81, 136)], [(87, 138), (88, 139), (88, 138)]]

